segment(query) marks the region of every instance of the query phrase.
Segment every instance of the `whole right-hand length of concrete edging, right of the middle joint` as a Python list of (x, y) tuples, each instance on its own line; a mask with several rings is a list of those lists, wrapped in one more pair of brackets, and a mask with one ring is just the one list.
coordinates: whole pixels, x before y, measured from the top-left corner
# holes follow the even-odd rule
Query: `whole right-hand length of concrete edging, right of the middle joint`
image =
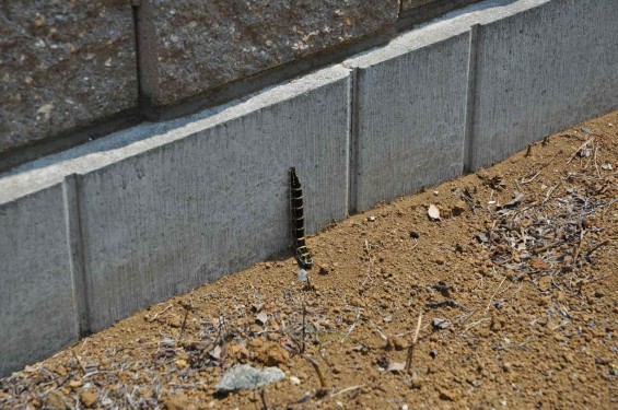
[(348, 60), (351, 210), (618, 108), (616, 21), (611, 0), (485, 1)]

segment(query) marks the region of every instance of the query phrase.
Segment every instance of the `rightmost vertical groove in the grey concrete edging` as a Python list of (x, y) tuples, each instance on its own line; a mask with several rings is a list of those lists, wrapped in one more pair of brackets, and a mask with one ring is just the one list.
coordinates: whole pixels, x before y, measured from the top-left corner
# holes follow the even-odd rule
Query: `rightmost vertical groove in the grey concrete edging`
[(470, 40), (468, 47), (468, 79), (466, 91), (466, 124), (464, 131), (464, 174), (473, 171), (474, 144), (475, 144), (475, 120), (476, 120), (476, 96), (477, 96), (477, 62), (478, 62), (478, 35), (480, 24), (470, 27)]

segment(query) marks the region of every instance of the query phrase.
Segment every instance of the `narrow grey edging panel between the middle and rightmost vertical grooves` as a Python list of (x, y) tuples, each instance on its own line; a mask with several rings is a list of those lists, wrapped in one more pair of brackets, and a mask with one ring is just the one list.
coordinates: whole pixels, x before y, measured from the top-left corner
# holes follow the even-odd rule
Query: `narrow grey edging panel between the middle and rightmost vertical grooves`
[(357, 72), (353, 209), (462, 173), (468, 45), (467, 26), (428, 26), (348, 61)]

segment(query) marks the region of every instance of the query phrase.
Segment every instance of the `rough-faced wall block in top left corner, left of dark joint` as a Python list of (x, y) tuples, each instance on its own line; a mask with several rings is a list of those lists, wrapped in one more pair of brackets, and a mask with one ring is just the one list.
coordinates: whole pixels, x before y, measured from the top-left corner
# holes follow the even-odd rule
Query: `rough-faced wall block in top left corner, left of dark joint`
[(0, 152), (137, 106), (129, 1), (0, 4)]

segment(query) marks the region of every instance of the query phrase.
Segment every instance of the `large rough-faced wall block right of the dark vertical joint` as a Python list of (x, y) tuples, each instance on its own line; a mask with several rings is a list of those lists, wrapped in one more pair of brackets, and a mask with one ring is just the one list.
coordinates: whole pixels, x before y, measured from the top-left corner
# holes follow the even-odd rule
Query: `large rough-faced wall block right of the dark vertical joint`
[(394, 25), (398, 0), (143, 0), (143, 92), (160, 106)]

